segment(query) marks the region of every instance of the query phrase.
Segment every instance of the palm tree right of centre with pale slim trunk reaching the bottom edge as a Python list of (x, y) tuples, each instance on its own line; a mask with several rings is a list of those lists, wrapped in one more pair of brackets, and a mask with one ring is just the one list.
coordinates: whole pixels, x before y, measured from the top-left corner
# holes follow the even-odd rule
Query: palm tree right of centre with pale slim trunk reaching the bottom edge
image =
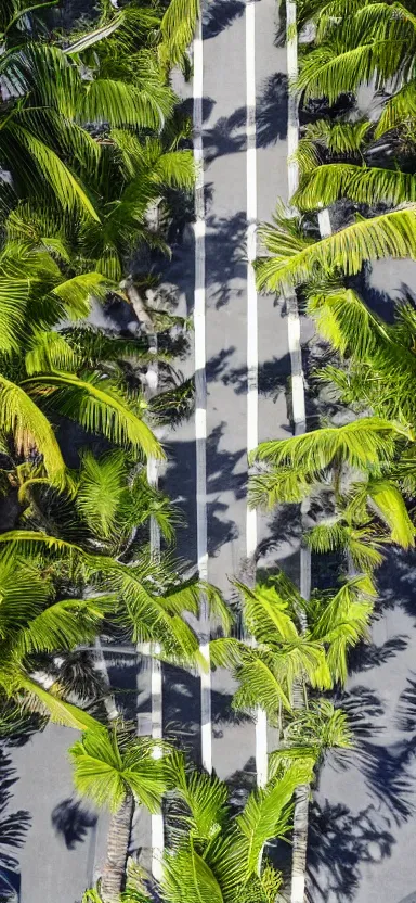
[[(308, 688), (344, 684), (348, 651), (368, 629), (372, 582), (354, 577), (338, 593), (312, 593), (310, 601), (283, 573), (255, 590), (237, 585), (243, 620), (256, 645), (212, 640), (211, 660), (233, 669), (238, 681), (233, 705), (251, 711), (260, 705), (278, 728), (283, 745), (270, 756), (270, 774), (275, 765), (299, 758), (318, 764), (328, 747), (348, 748), (351, 738), (343, 714), (325, 701), (310, 707)], [(299, 781), (296, 791), (291, 886), (296, 903), (304, 896), (310, 780)]]

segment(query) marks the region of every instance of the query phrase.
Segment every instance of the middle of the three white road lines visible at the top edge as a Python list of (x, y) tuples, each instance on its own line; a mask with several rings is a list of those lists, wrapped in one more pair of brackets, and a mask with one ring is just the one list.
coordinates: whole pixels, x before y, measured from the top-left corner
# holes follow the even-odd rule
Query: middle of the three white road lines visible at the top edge
[[(258, 296), (252, 263), (257, 255), (257, 129), (256, 129), (256, 0), (246, 0), (246, 175), (247, 175), (247, 453), (259, 444), (259, 341)], [(257, 511), (247, 505), (246, 555), (253, 560), (257, 549)], [(256, 775), (263, 787), (268, 780), (268, 721), (256, 713)]]

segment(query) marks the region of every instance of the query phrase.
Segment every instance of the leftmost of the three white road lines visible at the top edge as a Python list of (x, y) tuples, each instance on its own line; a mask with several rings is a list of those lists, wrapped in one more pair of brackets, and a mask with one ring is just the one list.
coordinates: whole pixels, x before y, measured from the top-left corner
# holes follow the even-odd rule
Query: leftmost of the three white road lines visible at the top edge
[[(207, 545), (207, 384), (205, 340), (205, 199), (204, 199), (204, 43), (202, 16), (194, 39), (194, 161), (197, 167), (195, 186), (195, 441), (196, 441), (196, 532), (198, 572), (208, 580)], [(209, 662), (209, 618), (206, 603), (202, 603), (200, 652), (207, 669), (200, 674), (200, 749), (202, 762), (207, 772), (212, 771), (211, 729), (211, 672)]]

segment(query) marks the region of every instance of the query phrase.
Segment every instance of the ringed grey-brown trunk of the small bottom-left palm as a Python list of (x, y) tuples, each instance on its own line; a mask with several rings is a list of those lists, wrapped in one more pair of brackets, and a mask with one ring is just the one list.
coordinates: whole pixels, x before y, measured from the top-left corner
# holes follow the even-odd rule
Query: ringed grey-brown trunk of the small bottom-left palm
[(107, 853), (101, 878), (103, 903), (119, 903), (126, 877), (129, 853), (133, 797), (128, 793), (121, 807), (112, 815), (107, 837)]

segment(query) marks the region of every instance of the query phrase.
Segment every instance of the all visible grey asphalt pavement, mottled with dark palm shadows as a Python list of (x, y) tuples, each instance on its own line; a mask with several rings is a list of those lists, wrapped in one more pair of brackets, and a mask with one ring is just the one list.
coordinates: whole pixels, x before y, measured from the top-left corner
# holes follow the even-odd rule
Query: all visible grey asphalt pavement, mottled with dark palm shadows
[[(246, 142), (245, 21), (243, 0), (211, 0), (204, 18), (209, 580), (231, 596), (229, 577), (245, 573), (246, 517)], [(286, 187), (286, 60), (275, 46), (275, 0), (256, 3), (258, 214), (269, 219)], [(178, 85), (192, 110), (192, 86)], [(186, 101), (187, 98), (187, 101)], [(166, 285), (178, 313), (191, 314), (194, 289), (192, 228), (173, 247)], [(414, 271), (386, 262), (372, 277), (370, 301), (386, 309), (389, 296), (414, 284)], [(387, 294), (386, 294), (387, 293)], [(303, 338), (310, 335), (302, 325)], [(288, 434), (290, 363), (282, 304), (259, 300), (259, 438)], [(191, 336), (192, 338), (192, 336)], [(192, 354), (180, 364), (193, 371)], [(192, 421), (166, 438), (169, 463), (164, 485), (183, 508), (178, 554), (196, 560), (195, 437)], [(297, 578), (299, 533), (286, 510), (259, 521), (259, 568), (281, 563)], [(382, 573), (382, 607), (372, 643), (354, 657), (344, 704), (358, 730), (353, 758), (328, 762), (311, 807), (312, 903), (416, 903), (414, 749), (416, 737), (415, 602), (413, 561), (392, 555)], [(148, 670), (120, 660), (113, 677), (134, 688), (139, 711), (150, 709)], [(213, 762), (222, 778), (249, 786), (253, 777), (253, 725), (238, 721), (230, 702), (233, 684), (212, 675)], [(167, 736), (180, 737), (199, 754), (199, 682), (165, 670)], [(20, 865), (21, 903), (75, 903), (100, 872), (106, 817), (76, 799), (68, 746), (74, 732), (49, 726), (11, 750), (15, 768), (8, 812), (31, 817), (22, 850), (0, 847)], [(22, 818), (22, 815), (21, 815)], [(148, 863), (150, 818), (139, 812), (134, 850)]]

